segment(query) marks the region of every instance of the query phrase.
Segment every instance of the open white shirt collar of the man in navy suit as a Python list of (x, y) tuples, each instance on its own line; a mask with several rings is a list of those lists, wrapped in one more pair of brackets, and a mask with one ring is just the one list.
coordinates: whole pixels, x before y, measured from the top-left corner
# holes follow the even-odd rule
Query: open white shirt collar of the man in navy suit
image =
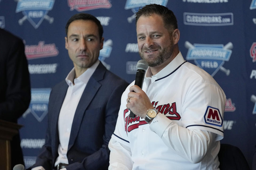
[(67, 77), (65, 79), (66, 83), (69, 86), (72, 86), (73, 82), (75, 83), (76, 81), (81, 81), (81, 82), (87, 84), (89, 79), (93, 75), (94, 71), (98, 67), (99, 62), (100, 61), (97, 60), (91, 67), (89, 67), (85, 72), (83, 72), (83, 74), (81, 74), (78, 78), (75, 78), (75, 68), (73, 67), (73, 69), (69, 72), (69, 74), (67, 75)]

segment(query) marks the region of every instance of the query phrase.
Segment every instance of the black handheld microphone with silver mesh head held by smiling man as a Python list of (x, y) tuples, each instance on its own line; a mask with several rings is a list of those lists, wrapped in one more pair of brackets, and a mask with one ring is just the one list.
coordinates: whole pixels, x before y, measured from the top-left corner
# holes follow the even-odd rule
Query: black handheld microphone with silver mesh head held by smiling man
[[(136, 72), (134, 85), (137, 85), (140, 88), (142, 88), (144, 76), (145, 76), (147, 67), (149, 67), (149, 64), (145, 60), (139, 60), (136, 66), (137, 66), (137, 72)], [(132, 111), (130, 111), (129, 116), (131, 118), (135, 118), (135, 114)]]

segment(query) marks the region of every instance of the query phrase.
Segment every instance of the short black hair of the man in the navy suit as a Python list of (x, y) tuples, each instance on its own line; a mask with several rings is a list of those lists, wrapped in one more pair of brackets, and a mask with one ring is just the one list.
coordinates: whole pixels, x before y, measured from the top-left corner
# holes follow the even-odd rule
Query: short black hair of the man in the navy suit
[(85, 13), (79, 13), (79, 14), (75, 14), (73, 16), (71, 16), (71, 18), (67, 21), (67, 24), (66, 24), (66, 35), (67, 35), (67, 31), (68, 31), (68, 28), (69, 28), (69, 25), (71, 22), (75, 21), (75, 20), (91, 20), (93, 22), (95, 22), (95, 24), (97, 24), (98, 26), (98, 31), (99, 31), (99, 38), (101, 40), (102, 38), (102, 35), (103, 35), (103, 27), (101, 25), (101, 22), (93, 15), (91, 14), (85, 14)]

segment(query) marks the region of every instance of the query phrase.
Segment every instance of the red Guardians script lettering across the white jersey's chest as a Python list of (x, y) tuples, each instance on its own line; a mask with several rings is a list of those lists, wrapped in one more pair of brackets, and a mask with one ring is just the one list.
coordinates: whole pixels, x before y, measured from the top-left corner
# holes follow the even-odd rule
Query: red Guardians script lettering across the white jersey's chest
[[(181, 116), (176, 110), (176, 103), (168, 103), (163, 105), (157, 105), (158, 101), (153, 101), (152, 105), (162, 114), (164, 114), (167, 118), (170, 120), (180, 120)], [(145, 122), (144, 119), (141, 117), (136, 116), (135, 118), (130, 118), (128, 109), (125, 109), (123, 112), (123, 117), (125, 121), (125, 131), (130, 132), (134, 129), (137, 129), (140, 125), (145, 125), (147, 122)]]

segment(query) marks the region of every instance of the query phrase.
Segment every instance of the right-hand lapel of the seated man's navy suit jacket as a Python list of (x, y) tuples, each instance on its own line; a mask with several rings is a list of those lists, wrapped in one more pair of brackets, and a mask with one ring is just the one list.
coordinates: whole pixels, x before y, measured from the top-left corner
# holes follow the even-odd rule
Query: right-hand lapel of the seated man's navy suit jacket
[(84, 115), (87, 107), (93, 100), (98, 89), (101, 87), (101, 84), (99, 83), (99, 81), (103, 79), (105, 72), (106, 72), (106, 68), (100, 62), (97, 69), (94, 71), (93, 75), (89, 79), (89, 81), (85, 87), (85, 90), (83, 91), (81, 99), (77, 105), (77, 109), (75, 111), (72, 128), (71, 128), (71, 133), (70, 133), (70, 138), (69, 138), (68, 150), (74, 145), (75, 139), (76, 139), (76, 137), (78, 135), (78, 131), (80, 129), (83, 115)]

